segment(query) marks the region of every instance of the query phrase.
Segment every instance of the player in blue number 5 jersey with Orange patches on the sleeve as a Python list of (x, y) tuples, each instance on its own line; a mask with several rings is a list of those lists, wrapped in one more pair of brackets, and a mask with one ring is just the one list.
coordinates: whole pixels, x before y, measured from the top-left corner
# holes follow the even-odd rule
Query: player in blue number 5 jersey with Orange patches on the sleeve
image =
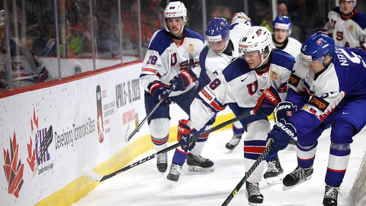
[[(316, 32), (305, 40), (288, 80), (286, 101), (277, 111), (283, 119), (268, 134), (274, 140), (270, 154), (285, 148), (291, 137), (298, 137), (298, 167), (285, 176), (284, 190), (311, 178), (317, 140), (332, 125), (323, 205), (337, 205), (352, 137), (366, 123), (365, 60), (365, 51), (335, 46), (325, 33)], [(302, 109), (287, 118), (294, 106)]]

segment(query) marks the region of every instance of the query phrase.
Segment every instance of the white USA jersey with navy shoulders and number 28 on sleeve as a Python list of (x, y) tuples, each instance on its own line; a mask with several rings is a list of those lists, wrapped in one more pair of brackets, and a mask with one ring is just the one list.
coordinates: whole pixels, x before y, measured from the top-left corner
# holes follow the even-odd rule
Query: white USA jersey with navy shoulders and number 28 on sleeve
[[(149, 92), (147, 86), (155, 80), (169, 87), (169, 81), (186, 69), (192, 69), (196, 75), (199, 75), (199, 53), (203, 46), (203, 37), (190, 29), (184, 29), (184, 38), (178, 46), (167, 30), (161, 29), (155, 32), (143, 60), (140, 74), (145, 91)], [(189, 85), (185, 91), (174, 91), (170, 96), (184, 93), (193, 86), (194, 84)]]

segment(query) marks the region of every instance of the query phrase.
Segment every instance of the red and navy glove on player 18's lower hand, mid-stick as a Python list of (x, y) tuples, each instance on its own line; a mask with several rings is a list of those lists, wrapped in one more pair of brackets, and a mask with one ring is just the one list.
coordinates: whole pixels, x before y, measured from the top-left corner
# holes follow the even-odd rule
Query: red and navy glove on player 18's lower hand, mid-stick
[(191, 129), (190, 126), (188, 126), (187, 124), (188, 120), (180, 119), (177, 128), (178, 130), (177, 138), (178, 141), (180, 142), (180, 146), (185, 152), (188, 152), (188, 150), (191, 151), (195, 146), (196, 144), (195, 141), (192, 140), (192, 142), (190, 142), (190, 139), (191, 137), (193, 137), (193, 133), (197, 132), (197, 130)]

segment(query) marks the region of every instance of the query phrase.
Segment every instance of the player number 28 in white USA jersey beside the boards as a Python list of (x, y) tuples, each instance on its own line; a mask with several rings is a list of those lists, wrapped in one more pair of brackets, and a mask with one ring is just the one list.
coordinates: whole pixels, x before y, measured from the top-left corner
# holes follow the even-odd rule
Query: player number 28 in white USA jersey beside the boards
[[(147, 119), (157, 151), (167, 147), (170, 101), (176, 102), (189, 114), (197, 87), (195, 81), (200, 72), (199, 52), (204, 46), (200, 34), (184, 28), (187, 10), (182, 2), (170, 2), (164, 10), (164, 18), (165, 29), (153, 34), (140, 74), (140, 82), (145, 89), (146, 114), (161, 98), (166, 100)], [(177, 86), (169, 95), (168, 91), (175, 83)], [(160, 172), (167, 170), (167, 153), (158, 155), (157, 168)]]

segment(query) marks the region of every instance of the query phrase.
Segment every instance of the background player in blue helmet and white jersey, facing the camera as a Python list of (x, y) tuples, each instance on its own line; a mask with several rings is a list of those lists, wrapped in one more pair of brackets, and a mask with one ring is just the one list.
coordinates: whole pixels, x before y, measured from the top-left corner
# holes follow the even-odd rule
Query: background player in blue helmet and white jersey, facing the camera
[(291, 20), (288, 16), (277, 16), (273, 21), (273, 43), (277, 49), (296, 57), (300, 54), (301, 43), (290, 37)]

